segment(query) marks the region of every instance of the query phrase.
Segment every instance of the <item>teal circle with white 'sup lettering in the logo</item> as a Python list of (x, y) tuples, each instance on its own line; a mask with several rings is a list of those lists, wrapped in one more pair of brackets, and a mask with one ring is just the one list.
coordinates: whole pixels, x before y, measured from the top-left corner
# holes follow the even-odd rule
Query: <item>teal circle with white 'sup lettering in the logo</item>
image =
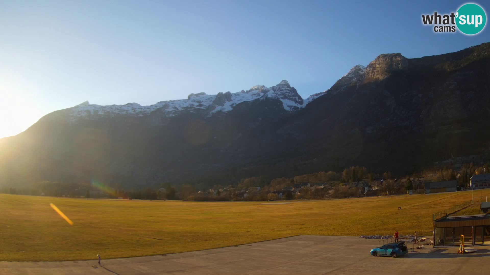
[(456, 25), (465, 34), (477, 34), (487, 23), (485, 11), (477, 4), (468, 3), (462, 5), (457, 11)]

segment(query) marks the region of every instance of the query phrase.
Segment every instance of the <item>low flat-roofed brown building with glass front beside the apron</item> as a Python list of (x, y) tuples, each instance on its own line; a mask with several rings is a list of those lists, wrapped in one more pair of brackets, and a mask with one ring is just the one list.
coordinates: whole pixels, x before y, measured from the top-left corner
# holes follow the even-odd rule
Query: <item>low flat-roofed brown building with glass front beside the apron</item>
[(461, 235), (465, 245), (490, 245), (490, 213), (447, 216), (434, 222), (434, 246), (457, 246)]

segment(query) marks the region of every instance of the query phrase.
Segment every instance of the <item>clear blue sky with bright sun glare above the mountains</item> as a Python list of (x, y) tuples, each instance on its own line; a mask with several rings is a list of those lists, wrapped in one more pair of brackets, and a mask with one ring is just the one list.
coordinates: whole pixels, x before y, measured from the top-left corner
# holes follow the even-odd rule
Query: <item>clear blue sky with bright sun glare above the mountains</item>
[(488, 27), (466, 36), (421, 23), (464, 3), (0, 0), (0, 138), (85, 100), (151, 105), (283, 79), (306, 98), (382, 53), (490, 42)]

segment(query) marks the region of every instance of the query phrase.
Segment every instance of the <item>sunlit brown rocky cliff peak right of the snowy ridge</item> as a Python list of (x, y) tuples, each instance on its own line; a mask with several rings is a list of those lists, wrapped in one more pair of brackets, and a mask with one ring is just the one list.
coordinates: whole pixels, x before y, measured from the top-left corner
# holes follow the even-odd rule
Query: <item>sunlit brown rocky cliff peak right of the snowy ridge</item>
[(364, 82), (383, 80), (392, 71), (405, 69), (408, 67), (408, 60), (401, 53), (384, 53), (369, 63), (366, 67)]

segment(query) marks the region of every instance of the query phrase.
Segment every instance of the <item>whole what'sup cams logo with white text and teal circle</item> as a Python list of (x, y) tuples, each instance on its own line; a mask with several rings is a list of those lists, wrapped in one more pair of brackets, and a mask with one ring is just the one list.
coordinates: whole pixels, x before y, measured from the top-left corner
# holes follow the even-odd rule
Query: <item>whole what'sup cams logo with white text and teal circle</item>
[(456, 13), (451, 14), (423, 14), (424, 25), (434, 25), (434, 32), (456, 32), (456, 28), (466, 35), (481, 32), (487, 23), (485, 10), (473, 3), (462, 5)]

